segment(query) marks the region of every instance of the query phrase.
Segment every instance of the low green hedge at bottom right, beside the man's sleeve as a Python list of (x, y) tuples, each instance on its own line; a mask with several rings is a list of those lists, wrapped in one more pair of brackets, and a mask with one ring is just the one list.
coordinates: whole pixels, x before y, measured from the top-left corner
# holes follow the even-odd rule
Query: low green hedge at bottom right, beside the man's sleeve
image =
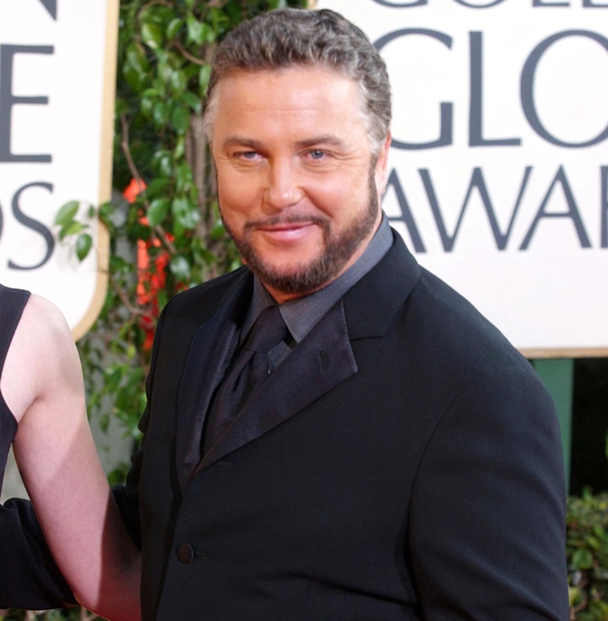
[(571, 497), (566, 525), (571, 619), (607, 621), (608, 493)]

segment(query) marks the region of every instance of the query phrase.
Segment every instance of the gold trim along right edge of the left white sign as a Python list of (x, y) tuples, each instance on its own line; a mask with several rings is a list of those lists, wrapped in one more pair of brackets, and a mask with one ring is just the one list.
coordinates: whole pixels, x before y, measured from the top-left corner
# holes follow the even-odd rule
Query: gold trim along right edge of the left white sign
[[(106, 48), (104, 51), (104, 93), (101, 107), (101, 154), (99, 204), (112, 198), (112, 153), (114, 140), (114, 106), (116, 100), (116, 62), (118, 50), (119, 0), (107, 0)], [(106, 225), (98, 222), (96, 243), (97, 274), (93, 299), (84, 317), (72, 330), (74, 340), (83, 337), (94, 324), (106, 299), (110, 235)]]

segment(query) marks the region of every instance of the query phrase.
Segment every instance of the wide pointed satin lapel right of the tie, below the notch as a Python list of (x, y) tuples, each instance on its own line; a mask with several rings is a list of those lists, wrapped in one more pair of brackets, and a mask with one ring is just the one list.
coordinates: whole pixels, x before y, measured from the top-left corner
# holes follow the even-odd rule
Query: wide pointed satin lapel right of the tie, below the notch
[(196, 471), (259, 438), (355, 373), (339, 301), (253, 395)]

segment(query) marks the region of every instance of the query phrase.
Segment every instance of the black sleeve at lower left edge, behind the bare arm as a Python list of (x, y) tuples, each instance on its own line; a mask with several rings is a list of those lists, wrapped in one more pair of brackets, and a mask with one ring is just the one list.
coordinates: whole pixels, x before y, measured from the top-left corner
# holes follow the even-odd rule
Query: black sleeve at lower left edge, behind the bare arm
[(0, 507), (0, 608), (43, 610), (76, 604), (29, 501)]

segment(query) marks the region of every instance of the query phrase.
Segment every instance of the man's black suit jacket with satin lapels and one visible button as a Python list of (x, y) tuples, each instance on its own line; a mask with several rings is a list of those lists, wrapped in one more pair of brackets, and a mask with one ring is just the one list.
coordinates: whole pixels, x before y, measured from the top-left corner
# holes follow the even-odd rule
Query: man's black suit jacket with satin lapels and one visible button
[(568, 619), (550, 397), (398, 236), (201, 460), (251, 289), (214, 279), (158, 327), (119, 493), (144, 619)]

